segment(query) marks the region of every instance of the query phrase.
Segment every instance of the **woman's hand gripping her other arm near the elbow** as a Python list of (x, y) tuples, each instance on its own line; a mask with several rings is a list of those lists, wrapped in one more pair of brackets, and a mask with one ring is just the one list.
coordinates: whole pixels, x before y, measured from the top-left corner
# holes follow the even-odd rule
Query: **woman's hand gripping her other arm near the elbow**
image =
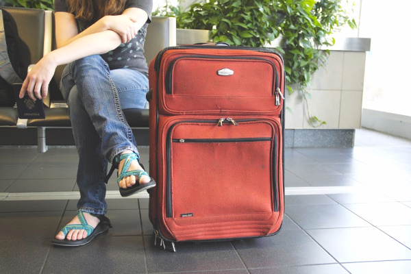
[(104, 16), (102, 19), (105, 21), (108, 29), (119, 34), (123, 43), (129, 42), (129, 40), (132, 40), (137, 35), (138, 25), (125, 14)]

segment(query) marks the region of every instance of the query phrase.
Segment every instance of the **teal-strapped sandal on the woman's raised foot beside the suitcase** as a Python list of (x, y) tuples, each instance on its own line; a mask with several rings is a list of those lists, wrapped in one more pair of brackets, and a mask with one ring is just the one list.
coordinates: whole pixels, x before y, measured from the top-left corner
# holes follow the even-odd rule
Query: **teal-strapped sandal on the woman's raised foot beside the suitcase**
[[(142, 192), (144, 190), (148, 190), (149, 188), (153, 188), (155, 186), (155, 181), (153, 180), (153, 178), (151, 178), (149, 176), (149, 173), (147, 173), (145, 171), (144, 166), (140, 163), (140, 159), (138, 158), (138, 155), (136, 153), (124, 153), (122, 155), (116, 155), (116, 157), (113, 160), (113, 166), (112, 169), (110, 170), (110, 172), (108, 173), (108, 175), (105, 177), (105, 183), (107, 184), (108, 179), (110, 178), (110, 176), (112, 175), (113, 171), (115, 168), (119, 167), (119, 163), (122, 161), (124, 161), (123, 166), (121, 167), (121, 171), (119, 171), (118, 177), (117, 177), (117, 184), (120, 183), (120, 181), (122, 179), (124, 179), (127, 176), (130, 175), (134, 175), (136, 176), (136, 184), (134, 184), (133, 186), (130, 186), (129, 188), (119, 188), (120, 191), (120, 195), (122, 197), (127, 197), (130, 196), (132, 194), (138, 193), (138, 192)], [(132, 161), (136, 160), (138, 162), (138, 164), (140, 164), (141, 168), (143, 170), (135, 170), (135, 171), (127, 171), (127, 169), (129, 169), (130, 164), (132, 164)], [(150, 177), (150, 182), (148, 182), (147, 184), (140, 184), (140, 177), (141, 176), (149, 176)]]

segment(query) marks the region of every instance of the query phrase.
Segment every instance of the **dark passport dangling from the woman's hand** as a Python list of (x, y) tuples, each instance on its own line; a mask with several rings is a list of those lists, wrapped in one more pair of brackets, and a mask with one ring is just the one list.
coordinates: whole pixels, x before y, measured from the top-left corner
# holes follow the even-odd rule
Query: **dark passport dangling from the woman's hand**
[(27, 93), (23, 98), (18, 98), (23, 84), (13, 84), (14, 96), (16, 97), (18, 118), (20, 119), (45, 119), (45, 107), (42, 99), (33, 101)]

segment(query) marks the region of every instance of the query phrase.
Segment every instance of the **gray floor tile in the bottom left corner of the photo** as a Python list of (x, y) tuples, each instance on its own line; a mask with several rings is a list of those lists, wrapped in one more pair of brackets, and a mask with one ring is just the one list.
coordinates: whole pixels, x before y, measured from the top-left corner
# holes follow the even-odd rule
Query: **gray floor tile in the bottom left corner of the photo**
[(0, 273), (41, 273), (50, 245), (49, 240), (26, 240), (8, 245), (0, 241)]

